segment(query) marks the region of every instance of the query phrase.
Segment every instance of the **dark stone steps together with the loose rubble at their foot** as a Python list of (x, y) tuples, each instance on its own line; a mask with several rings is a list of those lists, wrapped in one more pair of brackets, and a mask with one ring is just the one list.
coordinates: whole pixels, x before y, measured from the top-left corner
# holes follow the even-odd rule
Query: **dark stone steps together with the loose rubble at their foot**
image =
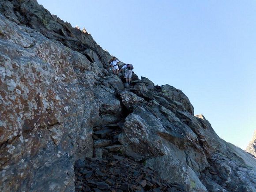
[(75, 162), (75, 191), (184, 191), (156, 176), (156, 172), (123, 154), (118, 141), (123, 122), (94, 127), (94, 158)]

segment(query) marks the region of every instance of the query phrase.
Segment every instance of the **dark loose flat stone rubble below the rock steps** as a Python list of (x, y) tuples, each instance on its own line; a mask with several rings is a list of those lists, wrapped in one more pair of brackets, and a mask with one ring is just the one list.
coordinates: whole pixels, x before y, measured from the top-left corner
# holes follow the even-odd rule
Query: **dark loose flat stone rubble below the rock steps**
[(75, 163), (76, 191), (184, 191), (178, 184), (170, 184), (157, 178), (154, 170), (129, 158), (113, 155), (113, 158), (87, 158)]

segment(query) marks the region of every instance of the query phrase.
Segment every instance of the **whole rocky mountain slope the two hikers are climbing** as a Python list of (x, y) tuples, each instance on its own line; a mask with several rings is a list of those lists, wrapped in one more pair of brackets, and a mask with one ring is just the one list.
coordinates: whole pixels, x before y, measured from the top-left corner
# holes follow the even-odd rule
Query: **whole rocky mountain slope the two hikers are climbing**
[(181, 90), (135, 74), (124, 89), (111, 55), (36, 0), (0, 0), (0, 45), (0, 191), (256, 190), (255, 158)]

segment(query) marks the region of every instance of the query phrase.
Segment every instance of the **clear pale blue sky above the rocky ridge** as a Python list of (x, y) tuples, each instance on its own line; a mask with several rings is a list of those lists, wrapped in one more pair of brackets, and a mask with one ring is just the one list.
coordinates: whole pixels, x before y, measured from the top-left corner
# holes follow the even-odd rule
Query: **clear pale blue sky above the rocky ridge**
[(134, 72), (181, 89), (218, 136), (256, 129), (255, 0), (38, 0)]

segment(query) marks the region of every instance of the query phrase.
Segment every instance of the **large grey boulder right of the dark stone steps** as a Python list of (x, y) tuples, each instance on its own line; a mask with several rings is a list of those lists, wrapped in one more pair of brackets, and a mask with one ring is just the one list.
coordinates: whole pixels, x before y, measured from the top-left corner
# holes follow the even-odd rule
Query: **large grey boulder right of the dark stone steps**
[(209, 165), (195, 133), (157, 102), (136, 105), (126, 117), (119, 140), (126, 154), (147, 159), (146, 165), (162, 178), (178, 181), (186, 190), (207, 191), (198, 177)]

